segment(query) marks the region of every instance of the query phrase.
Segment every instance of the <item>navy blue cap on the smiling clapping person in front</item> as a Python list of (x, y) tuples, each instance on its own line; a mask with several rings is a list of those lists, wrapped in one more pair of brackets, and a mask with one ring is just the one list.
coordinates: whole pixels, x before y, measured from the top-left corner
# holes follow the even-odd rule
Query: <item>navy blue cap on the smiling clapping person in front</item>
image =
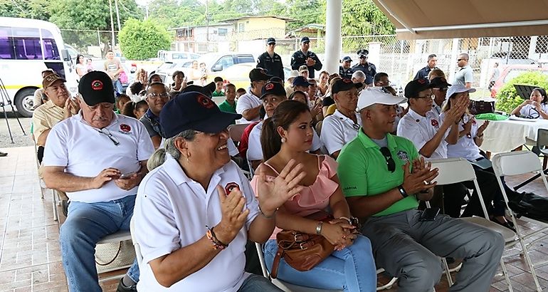
[(198, 92), (179, 93), (160, 112), (160, 126), (166, 138), (184, 130), (218, 133), (242, 115), (219, 110), (211, 98)]

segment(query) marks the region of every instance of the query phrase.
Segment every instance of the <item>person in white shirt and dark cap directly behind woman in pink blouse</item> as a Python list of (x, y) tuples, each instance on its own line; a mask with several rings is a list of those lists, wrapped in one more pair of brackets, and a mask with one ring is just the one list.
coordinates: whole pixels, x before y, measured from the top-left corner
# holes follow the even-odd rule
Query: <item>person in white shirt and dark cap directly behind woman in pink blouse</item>
[[(287, 100), (287, 97), (285, 96), (283, 85), (269, 82), (263, 87), (260, 99), (263, 100), (266, 120), (268, 117), (272, 116), (274, 110), (278, 108), (280, 103)], [(257, 168), (263, 160), (263, 147), (260, 145), (260, 131), (263, 130), (263, 121), (264, 120), (261, 120), (249, 133), (247, 158), (251, 167), (253, 167), (253, 170)], [(320, 137), (317, 136), (316, 132), (314, 132), (314, 135), (312, 136), (310, 153), (320, 153)]]

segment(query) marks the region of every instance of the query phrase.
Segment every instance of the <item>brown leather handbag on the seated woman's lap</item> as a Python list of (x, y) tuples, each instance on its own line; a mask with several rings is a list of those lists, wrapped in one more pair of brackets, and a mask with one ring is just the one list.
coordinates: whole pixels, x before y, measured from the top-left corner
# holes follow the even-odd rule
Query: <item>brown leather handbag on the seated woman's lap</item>
[[(326, 215), (322, 215), (323, 218), (316, 219), (317, 221), (331, 221), (333, 219), (327, 212), (323, 213)], [(318, 217), (317, 213), (312, 215)], [(276, 251), (276, 256), (270, 269), (271, 278), (278, 276), (278, 266), (282, 257), (295, 270), (310, 271), (334, 251), (334, 246), (324, 236), (307, 234), (296, 230), (280, 231), (276, 234), (276, 241), (278, 241), (278, 251)]]

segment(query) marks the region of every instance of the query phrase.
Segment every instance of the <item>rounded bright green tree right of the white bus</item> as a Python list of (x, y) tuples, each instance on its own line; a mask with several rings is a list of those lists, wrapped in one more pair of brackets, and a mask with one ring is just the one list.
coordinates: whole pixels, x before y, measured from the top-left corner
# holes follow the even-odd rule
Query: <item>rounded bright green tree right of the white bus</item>
[(172, 37), (166, 28), (147, 19), (128, 19), (118, 35), (122, 53), (128, 59), (144, 60), (153, 58), (158, 50), (168, 50)]

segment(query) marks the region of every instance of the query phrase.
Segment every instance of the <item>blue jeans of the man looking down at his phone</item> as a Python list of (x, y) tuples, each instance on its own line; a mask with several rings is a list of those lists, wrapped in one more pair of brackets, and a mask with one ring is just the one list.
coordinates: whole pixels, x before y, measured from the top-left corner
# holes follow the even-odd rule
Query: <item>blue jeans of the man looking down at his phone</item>
[[(95, 268), (95, 245), (108, 234), (130, 230), (135, 197), (99, 203), (70, 202), (59, 236), (69, 291), (101, 292)], [(137, 261), (127, 275), (139, 281)]]

